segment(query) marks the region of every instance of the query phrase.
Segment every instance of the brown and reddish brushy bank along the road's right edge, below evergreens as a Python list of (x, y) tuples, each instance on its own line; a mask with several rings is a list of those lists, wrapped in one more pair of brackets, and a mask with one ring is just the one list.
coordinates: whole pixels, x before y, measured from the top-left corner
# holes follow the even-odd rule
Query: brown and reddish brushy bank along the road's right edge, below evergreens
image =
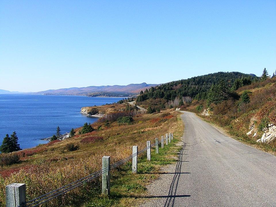
[[(239, 101), (223, 101), (217, 106), (212, 106), (213, 114), (220, 114), (220, 119), (211, 119), (202, 115), (202, 111), (206, 108), (205, 102), (194, 102), (192, 106), (188, 106), (185, 110), (195, 112), (206, 122), (214, 124), (216, 127), (224, 129), (231, 137), (237, 139), (245, 144), (248, 144), (257, 149), (269, 152), (276, 155), (276, 140), (270, 143), (257, 143), (256, 140), (260, 139), (263, 132), (258, 131), (258, 136), (252, 138), (248, 137), (246, 133), (249, 130), (251, 124), (258, 126), (261, 124), (263, 118), (267, 115), (261, 113), (263, 108), (271, 101), (276, 100), (276, 79), (268, 79), (267, 81), (253, 83), (251, 85), (241, 87), (237, 90), (237, 93), (241, 94), (243, 91), (249, 90), (250, 103), (239, 104)], [(196, 106), (202, 104), (204, 108), (201, 111), (196, 110)]]

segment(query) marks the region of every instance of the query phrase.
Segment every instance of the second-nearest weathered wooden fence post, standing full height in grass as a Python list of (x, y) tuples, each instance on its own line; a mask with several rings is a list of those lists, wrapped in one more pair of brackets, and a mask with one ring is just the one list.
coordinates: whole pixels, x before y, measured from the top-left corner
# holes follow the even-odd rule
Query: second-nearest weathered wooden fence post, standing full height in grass
[(104, 195), (110, 195), (110, 156), (104, 156), (102, 160), (102, 188)]

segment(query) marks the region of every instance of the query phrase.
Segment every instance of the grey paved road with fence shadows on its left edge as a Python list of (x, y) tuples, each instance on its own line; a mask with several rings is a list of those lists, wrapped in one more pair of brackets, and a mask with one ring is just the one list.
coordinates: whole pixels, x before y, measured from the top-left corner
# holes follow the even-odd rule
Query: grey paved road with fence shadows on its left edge
[(276, 156), (244, 145), (183, 112), (179, 162), (141, 206), (276, 206)]

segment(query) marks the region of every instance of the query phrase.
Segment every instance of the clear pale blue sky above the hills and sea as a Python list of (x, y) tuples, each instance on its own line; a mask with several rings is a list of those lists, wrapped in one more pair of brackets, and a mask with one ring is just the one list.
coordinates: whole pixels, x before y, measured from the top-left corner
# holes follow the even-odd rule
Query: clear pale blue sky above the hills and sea
[(0, 1), (0, 89), (276, 70), (276, 1)]

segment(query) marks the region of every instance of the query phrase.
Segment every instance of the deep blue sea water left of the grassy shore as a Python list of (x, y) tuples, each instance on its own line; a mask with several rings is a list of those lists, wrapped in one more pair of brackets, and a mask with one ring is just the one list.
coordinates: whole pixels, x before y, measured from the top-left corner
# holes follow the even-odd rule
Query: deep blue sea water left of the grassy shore
[[(94, 117), (81, 114), (84, 106), (101, 106), (122, 98), (57, 96), (57, 95), (0, 95), (0, 141), (16, 131), (22, 149), (37, 146), (51, 137), (57, 126), (61, 133), (93, 123)], [(0, 144), (1, 144), (0, 143)]]

